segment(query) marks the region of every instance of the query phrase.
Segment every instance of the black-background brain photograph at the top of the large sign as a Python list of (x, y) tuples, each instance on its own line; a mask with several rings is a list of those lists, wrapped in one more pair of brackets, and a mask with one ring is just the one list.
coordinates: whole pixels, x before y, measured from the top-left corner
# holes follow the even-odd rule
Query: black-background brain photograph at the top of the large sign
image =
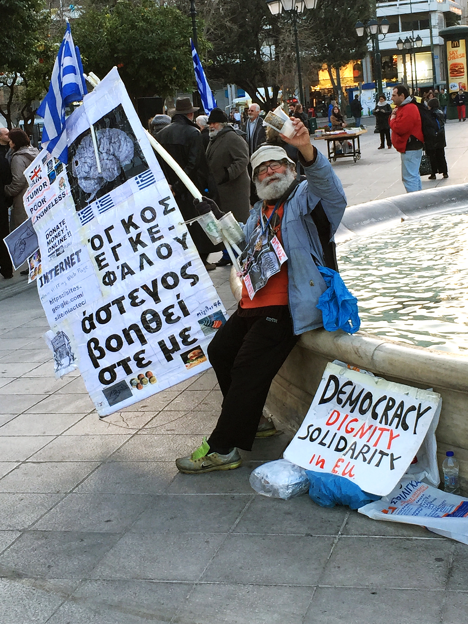
[(121, 104), (93, 125), (101, 172), (90, 129), (80, 134), (68, 150), (67, 173), (77, 210), (149, 168)]

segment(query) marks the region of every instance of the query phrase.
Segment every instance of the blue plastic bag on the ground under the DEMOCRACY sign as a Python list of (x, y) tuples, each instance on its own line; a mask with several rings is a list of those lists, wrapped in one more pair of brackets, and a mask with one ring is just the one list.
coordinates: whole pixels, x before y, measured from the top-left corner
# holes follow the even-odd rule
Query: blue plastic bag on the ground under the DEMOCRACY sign
[(348, 505), (351, 509), (359, 509), (381, 499), (380, 496), (364, 492), (358, 485), (340, 475), (312, 470), (306, 470), (306, 475), (310, 480), (309, 496), (320, 507)]

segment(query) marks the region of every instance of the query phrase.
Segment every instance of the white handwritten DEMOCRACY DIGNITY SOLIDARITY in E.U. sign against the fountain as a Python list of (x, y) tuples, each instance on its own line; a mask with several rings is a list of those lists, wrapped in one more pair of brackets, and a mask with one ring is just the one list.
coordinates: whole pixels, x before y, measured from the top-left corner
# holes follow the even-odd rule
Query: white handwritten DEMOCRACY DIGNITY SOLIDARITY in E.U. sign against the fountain
[(284, 457), (384, 496), (413, 461), (440, 406), (436, 392), (329, 363)]

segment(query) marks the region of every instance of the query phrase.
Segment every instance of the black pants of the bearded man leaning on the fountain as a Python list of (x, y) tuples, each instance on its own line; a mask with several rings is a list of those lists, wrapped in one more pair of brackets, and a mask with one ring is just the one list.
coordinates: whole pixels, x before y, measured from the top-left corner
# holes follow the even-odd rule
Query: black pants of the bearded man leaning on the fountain
[(241, 317), (235, 312), (208, 346), (208, 359), (223, 393), (212, 447), (250, 451), (271, 381), (299, 336), (288, 310), (275, 316)]

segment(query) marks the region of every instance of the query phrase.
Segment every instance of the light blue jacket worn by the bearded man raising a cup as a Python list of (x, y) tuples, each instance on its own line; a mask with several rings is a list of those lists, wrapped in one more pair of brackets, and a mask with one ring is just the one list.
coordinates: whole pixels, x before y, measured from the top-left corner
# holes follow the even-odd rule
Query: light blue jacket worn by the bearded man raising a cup
[[(346, 208), (341, 182), (321, 152), (313, 165), (305, 167), (305, 174), (307, 179), (295, 187), (286, 200), (281, 220), (281, 239), (288, 256), (288, 301), (296, 335), (322, 326), (322, 313), (316, 305), (326, 286), (316, 262), (324, 265), (324, 260), (311, 212), (321, 202), (330, 223), (330, 240), (333, 240)], [(262, 202), (257, 202), (250, 210), (244, 226), (246, 240), (256, 228), (261, 205)]]

